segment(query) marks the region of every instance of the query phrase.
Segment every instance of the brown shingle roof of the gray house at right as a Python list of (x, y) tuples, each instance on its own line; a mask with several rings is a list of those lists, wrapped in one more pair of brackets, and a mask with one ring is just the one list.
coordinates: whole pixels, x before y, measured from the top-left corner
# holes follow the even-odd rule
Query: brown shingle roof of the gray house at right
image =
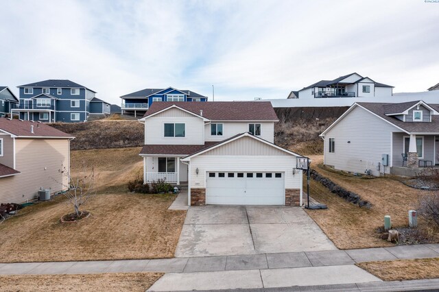
[[(412, 101), (412, 104), (418, 102), (419, 101)], [(357, 102), (357, 104), (409, 133), (439, 133), (439, 115), (432, 115), (431, 122), (404, 122), (396, 119), (396, 117), (389, 117), (385, 114), (386, 107), (394, 107), (395, 109), (401, 107), (407, 109), (407, 104), (410, 103), (403, 103), (401, 104), (402, 106), (399, 106), (399, 104), (384, 104), (378, 102)], [(439, 111), (439, 104), (429, 104), (429, 106)]]

